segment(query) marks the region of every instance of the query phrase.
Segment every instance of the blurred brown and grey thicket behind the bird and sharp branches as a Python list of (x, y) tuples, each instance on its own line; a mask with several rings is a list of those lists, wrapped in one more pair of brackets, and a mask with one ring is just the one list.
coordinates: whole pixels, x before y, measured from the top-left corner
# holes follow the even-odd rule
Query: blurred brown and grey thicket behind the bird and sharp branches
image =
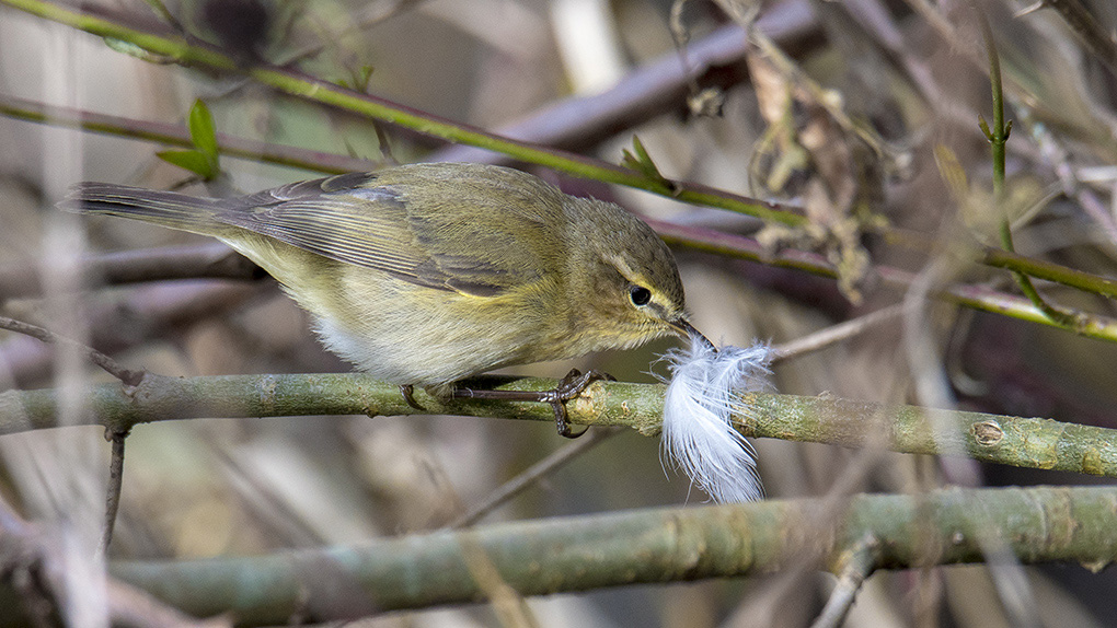
[[(1016, 249), (1111, 277), (1115, 67), (1053, 10), (980, 4), (1000, 49), (1015, 125), (1006, 194)], [(1006, 272), (951, 261), (975, 242), (996, 243), (992, 162), (977, 124), (978, 115), (992, 119), (987, 61), (970, 2), (209, 0), (168, 2), (170, 22), (139, 1), (86, 6), (150, 28), (181, 28), (246, 65), (289, 65), (612, 163), (638, 135), (668, 177), (804, 207), (812, 229), (779, 232), (747, 216), (524, 166), (572, 194), (615, 201), (659, 221), (746, 234), (773, 251), (820, 251), (842, 269), (834, 281), (677, 250), (693, 320), (715, 341), (780, 344), (905, 299), (915, 303), (917, 315), (780, 364), (774, 384), (782, 393), (1117, 427), (1117, 346), (927, 298), (955, 282), (1015, 293)], [(1115, 7), (1086, 2), (1106, 33), (1117, 28)], [(742, 23), (752, 25), (753, 37)], [(682, 42), (689, 48), (680, 55)], [(367, 170), (392, 161), (505, 163), (237, 76), (153, 64), (114, 47), (122, 48), (0, 7), (0, 269), (30, 269), (37, 281), (37, 289), (0, 292), (0, 313), (82, 339), (132, 368), (193, 376), (349, 366), (318, 346), (307, 317), (269, 280), (79, 286), (83, 255), (206, 241), (132, 221), (64, 215), (52, 205), (65, 189), (96, 180), (223, 195), (318, 174), (222, 157), (221, 180), (202, 184), (157, 158), (162, 145), (21, 119), (27, 102), (182, 125), (202, 99), (219, 133), (349, 156), (356, 165), (364, 160)], [(884, 222), (924, 234), (924, 245), (889, 245), (872, 231)], [(916, 288), (881, 280), (876, 264), (911, 273)], [(1041, 289), (1065, 306), (1114, 315), (1113, 303), (1098, 297)], [(652, 374), (662, 373), (658, 356), (672, 346), (663, 340), (513, 371), (555, 377), (576, 366), (653, 381)], [(0, 389), (86, 378), (105, 379), (80, 359), (55, 359), (37, 340), (0, 332)], [(70, 416), (82, 412), (65, 407)], [(827, 445), (755, 444), (771, 497), (1098, 482)], [(433, 530), (566, 445), (546, 423), (465, 417), (141, 426), (128, 439), (111, 558), (255, 554)], [(685, 477), (663, 470), (658, 447), (655, 438), (621, 433), (480, 523), (705, 501)], [(107, 460), (99, 429), (4, 436), (0, 495), (29, 519), (65, 521), (95, 542)], [(1111, 571), (1057, 566), (1022, 573), (1033, 625), (1117, 624)], [(831, 586), (831, 577), (804, 567), (747, 580), (554, 596), (528, 606), (546, 627), (805, 626)], [(847, 625), (1019, 625), (1012, 609), (984, 567), (881, 572), (867, 582)], [(497, 624), (480, 606), (361, 622)]]

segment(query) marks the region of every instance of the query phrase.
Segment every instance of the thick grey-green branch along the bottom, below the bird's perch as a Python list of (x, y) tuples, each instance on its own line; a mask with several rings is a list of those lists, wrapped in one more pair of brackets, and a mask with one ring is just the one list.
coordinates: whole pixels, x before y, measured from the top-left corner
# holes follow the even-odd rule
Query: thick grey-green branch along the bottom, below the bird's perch
[[(637, 510), (264, 557), (117, 562), (109, 571), (187, 613), (232, 612), (241, 626), (260, 626), (285, 624), (296, 610), (313, 624), (485, 601), (474, 578), (478, 555), (524, 596), (751, 576), (804, 558), (822, 568), (866, 538), (880, 541), (877, 569), (982, 562), (983, 534), (1000, 537), (1024, 563), (1100, 568), (1117, 555), (1113, 487), (856, 495), (837, 518), (828, 508), (793, 500)], [(987, 513), (982, 523), (976, 510)]]

